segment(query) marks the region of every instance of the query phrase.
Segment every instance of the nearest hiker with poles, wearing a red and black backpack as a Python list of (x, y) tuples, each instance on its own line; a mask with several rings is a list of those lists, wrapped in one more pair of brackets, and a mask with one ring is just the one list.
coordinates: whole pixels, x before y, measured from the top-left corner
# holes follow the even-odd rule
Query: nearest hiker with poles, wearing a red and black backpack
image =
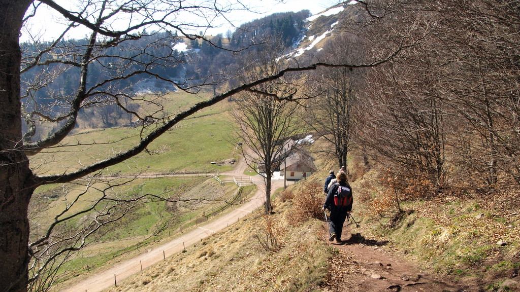
[(352, 188), (348, 184), (347, 175), (344, 171), (337, 173), (336, 180), (337, 182), (329, 188), (323, 210), (330, 210), (329, 241), (333, 241), (335, 238), (336, 242), (342, 242), (343, 223), (345, 223), (348, 212), (352, 210), (353, 198)]

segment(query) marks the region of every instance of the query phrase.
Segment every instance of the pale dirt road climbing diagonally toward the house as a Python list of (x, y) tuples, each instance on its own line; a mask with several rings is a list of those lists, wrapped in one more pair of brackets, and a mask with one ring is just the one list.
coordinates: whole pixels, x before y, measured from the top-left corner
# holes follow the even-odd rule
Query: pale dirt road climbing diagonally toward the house
[[(239, 161), (235, 167), (235, 170), (225, 172), (222, 175), (228, 176), (243, 176), (243, 171), (247, 165)], [(146, 269), (153, 264), (164, 260), (165, 257), (170, 257), (176, 253), (179, 253), (184, 248), (188, 248), (194, 243), (200, 242), (201, 239), (206, 238), (213, 233), (227, 228), (229, 225), (237, 222), (244, 216), (247, 216), (253, 212), (253, 210), (262, 207), (265, 202), (265, 187), (263, 179), (260, 176), (256, 176), (255, 182), (257, 182), (257, 189), (251, 199), (239, 206), (233, 208), (226, 214), (216, 217), (215, 219), (206, 222), (205, 225), (200, 225), (194, 230), (186, 232), (185, 234), (175, 238), (174, 240), (163, 244), (153, 249), (149, 249), (139, 256), (125, 260), (121, 263), (115, 264), (111, 268), (100, 271), (95, 275), (84, 278), (76, 283), (68, 282), (67, 287), (61, 287), (61, 292), (99, 292), (108, 287), (114, 286), (116, 282), (122, 281), (124, 278), (141, 272), (142, 269)], [(272, 192), (276, 189), (283, 187), (283, 180), (272, 181)]]

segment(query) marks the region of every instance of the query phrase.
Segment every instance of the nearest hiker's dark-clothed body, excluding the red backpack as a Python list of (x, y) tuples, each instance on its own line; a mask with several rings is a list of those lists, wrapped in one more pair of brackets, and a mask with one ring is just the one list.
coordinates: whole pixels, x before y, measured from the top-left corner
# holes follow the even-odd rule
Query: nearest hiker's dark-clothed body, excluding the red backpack
[(339, 171), (336, 176), (337, 183), (334, 183), (329, 188), (329, 193), (327, 193), (327, 198), (325, 199), (325, 203), (323, 204), (323, 211), (325, 209), (330, 210), (330, 238), (329, 241), (333, 241), (334, 238), (336, 242), (341, 241), (341, 233), (343, 231), (343, 223), (345, 223), (345, 219), (347, 218), (347, 213), (352, 210), (352, 201), (350, 201), (348, 206), (336, 206), (334, 202), (334, 195), (337, 192), (337, 189), (340, 187), (347, 187), (350, 192), (350, 198), (352, 198), (352, 188), (347, 181), (347, 174), (344, 171)]

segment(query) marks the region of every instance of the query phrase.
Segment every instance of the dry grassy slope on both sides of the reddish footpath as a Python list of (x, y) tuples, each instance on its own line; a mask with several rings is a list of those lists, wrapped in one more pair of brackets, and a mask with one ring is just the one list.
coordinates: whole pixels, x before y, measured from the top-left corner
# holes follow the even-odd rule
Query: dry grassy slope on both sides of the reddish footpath
[[(109, 291), (321, 290), (334, 262), (329, 259), (337, 256), (337, 250), (324, 241), (322, 196), (314, 195), (321, 195), (321, 179), (326, 175), (323, 171), (291, 186), (290, 196), (278, 195), (275, 214), (269, 218), (253, 214)], [(500, 204), (456, 198), (417, 200), (402, 203), (405, 213), (400, 218), (375, 216), (363, 194), (373, 175), (369, 172), (352, 183), (354, 216), (360, 223), (355, 232), (385, 242), (381, 249), (419, 263), (428, 273), (444, 274), (448, 282), (469, 285), (472, 291), (496, 291), (504, 280), (518, 275), (520, 221), (502, 217), (508, 211)], [(481, 213), (484, 217), (478, 216)], [(269, 236), (279, 245), (266, 249), (261, 240)], [(498, 239), (507, 244), (497, 245)]]

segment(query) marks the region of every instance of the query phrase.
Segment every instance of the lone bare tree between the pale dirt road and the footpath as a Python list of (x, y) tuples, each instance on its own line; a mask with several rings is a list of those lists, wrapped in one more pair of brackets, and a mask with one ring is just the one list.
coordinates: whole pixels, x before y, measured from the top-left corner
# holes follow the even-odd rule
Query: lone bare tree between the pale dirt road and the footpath
[[(279, 71), (286, 62), (281, 57), (283, 50), (281, 42), (268, 42), (246, 52), (242, 78), (251, 81)], [(237, 110), (233, 113), (238, 124), (236, 139), (243, 143), (242, 155), (265, 178), (265, 214), (271, 211), (272, 175), (297, 145), (285, 142), (304, 130), (297, 124), (298, 104), (287, 99), (294, 97), (295, 88), (291, 78), (252, 87), (238, 95)]]

